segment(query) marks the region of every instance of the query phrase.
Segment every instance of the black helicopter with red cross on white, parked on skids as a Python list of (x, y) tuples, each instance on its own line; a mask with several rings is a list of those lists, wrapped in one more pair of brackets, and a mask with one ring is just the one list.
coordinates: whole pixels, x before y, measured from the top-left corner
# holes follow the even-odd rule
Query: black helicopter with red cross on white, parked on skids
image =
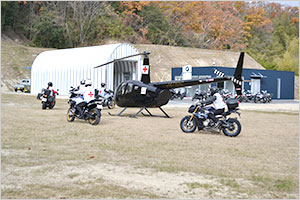
[[(143, 110), (146, 110), (149, 116), (153, 116), (147, 108), (159, 108), (165, 114), (165, 116), (169, 118), (169, 115), (161, 108), (161, 106), (166, 105), (169, 102), (172, 96), (170, 89), (174, 89), (174, 88), (231, 80), (234, 83), (236, 93), (238, 95), (241, 95), (242, 93), (241, 76), (242, 76), (242, 69), (243, 69), (244, 52), (240, 54), (234, 76), (225, 76), (224, 73), (215, 70), (215, 73), (219, 77), (206, 78), (206, 79), (181, 80), (181, 81), (152, 82), (152, 83), (150, 82), (150, 65), (149, 65), (149, 57), (148, 57), (149, 54), (150, 54), (149, 52), (134, 54), (120, 59), (115, 59), (113, 61), (95, 67), (95, 68), (102, 67), (107, 64), (121, 61), (123, 59), (134, 57), (134, 56), (139, 56), (139, 55), (144, 56), (141, 81), (128, 80), (120, 83), (116, 89), (115, 102), (119, 107), (124, 107), (124, 109), (120, 113), (118, 113), (117, 116), (121, 116), (122, 113), (128, 107), (137, 107), (141, 109), (132, 117), (136, 117)], [(113, 115), (111, 113), (109, 114)]]

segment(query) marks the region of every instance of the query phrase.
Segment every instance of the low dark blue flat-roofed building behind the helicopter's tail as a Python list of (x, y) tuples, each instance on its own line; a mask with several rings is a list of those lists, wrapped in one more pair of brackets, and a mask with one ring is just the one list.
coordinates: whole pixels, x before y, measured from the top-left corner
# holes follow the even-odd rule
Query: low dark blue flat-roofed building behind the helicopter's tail
[[(226, 75), (233, 75), (235, 68), (231, 67), (192, 67), (192, 78), (208, 78), (215, 77), (214, 70), (217, 69)], [(182, 68), (172, 68), (172, 80), (180, 80), (182, 78)], [(242, 89), (250, 90), (252, 93), (267, 90), (273, 94), (273, 99), (294, 99), (294, 83), (295, 73), (287, 71), (260, 70), (260, 69), (243, 69), (244, 82)], [(231, 81), (212, 84), (217, 85), (221, 89), (227, 89), (234, 93), (234, 85)], [(206, 90), (209, 85), (193, 86), (188, 89), (188, 96), (194, 94), (196, 89)]]

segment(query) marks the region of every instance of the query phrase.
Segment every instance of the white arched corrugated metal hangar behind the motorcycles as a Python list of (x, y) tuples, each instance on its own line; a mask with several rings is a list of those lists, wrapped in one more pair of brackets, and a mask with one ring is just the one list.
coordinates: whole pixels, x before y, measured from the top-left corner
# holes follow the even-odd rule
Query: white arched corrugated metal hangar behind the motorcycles
[(142, 57), (135, 56), (122, 61), (94, 68), (114, 59), (138, 54), (130, 44), (110, 44), (45, 51), (39, 54), (31, 68), (31, 93), (37, 94), (48, 82), (67, 95), (71, 86), (76, 87), (82, 79), (91, 79), (93, 87), (101, 83), (114, 90), (120, 82), (139, 80)]

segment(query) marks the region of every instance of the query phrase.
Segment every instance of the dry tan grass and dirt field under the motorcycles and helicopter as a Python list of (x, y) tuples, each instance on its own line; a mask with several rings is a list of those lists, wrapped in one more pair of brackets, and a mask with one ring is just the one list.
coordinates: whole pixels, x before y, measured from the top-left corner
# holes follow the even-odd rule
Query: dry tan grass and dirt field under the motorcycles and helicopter
[(92, 126), (67, 122), (66, 99), (53, 110), (31, 95), (1, 101), (2, 198), (299, 198), (298, 113), (242, 110), (231, 138), (184, 134), (185, 107), (165, 107), (171, 119), (105, 108)]

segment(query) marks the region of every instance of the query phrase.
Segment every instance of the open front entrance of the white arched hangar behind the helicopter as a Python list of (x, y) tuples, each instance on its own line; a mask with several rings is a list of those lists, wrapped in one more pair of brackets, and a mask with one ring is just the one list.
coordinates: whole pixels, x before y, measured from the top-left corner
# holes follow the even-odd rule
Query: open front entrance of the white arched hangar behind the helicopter
[(137, 80), (137, 61), (122, 60), (114, 63), (114, 88), (115, 90), (121, 82)]

